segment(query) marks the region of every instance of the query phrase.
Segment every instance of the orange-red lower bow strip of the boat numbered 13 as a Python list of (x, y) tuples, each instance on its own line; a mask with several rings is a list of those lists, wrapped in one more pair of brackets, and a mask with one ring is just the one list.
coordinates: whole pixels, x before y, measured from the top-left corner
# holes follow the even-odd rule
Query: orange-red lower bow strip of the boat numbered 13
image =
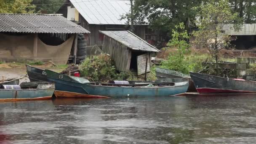
[(107, 96), (95, 96), (90, 94), (74, 93), (69, 91), (54, 91), (57, 98), (109, 98)]

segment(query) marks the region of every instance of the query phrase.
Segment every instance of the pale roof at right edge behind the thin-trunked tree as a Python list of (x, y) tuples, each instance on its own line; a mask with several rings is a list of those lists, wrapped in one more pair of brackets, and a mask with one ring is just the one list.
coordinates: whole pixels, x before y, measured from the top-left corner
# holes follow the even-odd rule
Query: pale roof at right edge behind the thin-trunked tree
[(225, 24), (223, 30), (228, 35), (256, 35), (256, 24), (243, 24), (238, 32), (233, 28), (233, 24)]

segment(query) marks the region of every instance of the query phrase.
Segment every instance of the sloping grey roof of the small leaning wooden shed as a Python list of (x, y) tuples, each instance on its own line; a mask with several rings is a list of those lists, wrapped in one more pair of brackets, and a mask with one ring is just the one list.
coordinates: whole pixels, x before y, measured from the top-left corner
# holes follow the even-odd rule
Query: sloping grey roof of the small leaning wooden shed
[(140, 37), (136, 36), (130, 31), (99, 31), (100, 33), (111, 37), (118, 42), (126, 45), (128, 48), (139, 51), (152, 51), (159, 52), (159, 50), (142, 40)]

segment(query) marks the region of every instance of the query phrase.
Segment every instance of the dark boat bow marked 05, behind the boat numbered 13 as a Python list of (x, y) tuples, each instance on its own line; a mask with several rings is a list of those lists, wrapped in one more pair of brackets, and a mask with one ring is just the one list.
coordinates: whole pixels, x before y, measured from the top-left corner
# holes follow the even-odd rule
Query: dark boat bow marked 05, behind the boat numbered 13
[(45, 70), (31, 67), (27, 64), (26, 64), (26, 67), (27, 67), (27, 75), (29, 76), (29, 80), (31, 82), (36, 82), (36, 81), (47, 82), (48, 81)]

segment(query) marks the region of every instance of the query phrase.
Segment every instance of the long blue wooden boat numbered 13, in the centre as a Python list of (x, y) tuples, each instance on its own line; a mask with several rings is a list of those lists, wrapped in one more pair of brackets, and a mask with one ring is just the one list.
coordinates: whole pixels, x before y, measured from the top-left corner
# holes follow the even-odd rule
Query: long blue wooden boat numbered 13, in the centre
[(152, 84), (90, 83), (82, 77), (63, 75), (47, 69), (45, 71), (47, 79), (56, 84), (55, 95), (57, 97), (88, 94), (104, 97), (170, 96), (186, 92), (189, 86), (188, 80)]

